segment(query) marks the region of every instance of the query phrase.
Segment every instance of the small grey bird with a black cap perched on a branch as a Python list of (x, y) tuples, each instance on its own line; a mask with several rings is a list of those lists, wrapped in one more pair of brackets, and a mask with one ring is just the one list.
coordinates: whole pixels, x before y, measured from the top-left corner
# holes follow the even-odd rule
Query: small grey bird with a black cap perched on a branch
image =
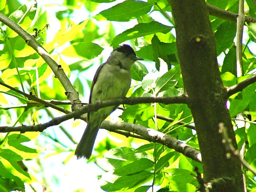
[[(137, 60), (143, 59), (136, 57), (134, 50), (127, 44), (114, 49), (94, 75), (89, 103), (125, 97), (131, 85), (131, 67)], [(88, 113), (86, 129), (75, 151), (77, 159), (90, 158), (101, 123), (117, 107), (105, 107)]]

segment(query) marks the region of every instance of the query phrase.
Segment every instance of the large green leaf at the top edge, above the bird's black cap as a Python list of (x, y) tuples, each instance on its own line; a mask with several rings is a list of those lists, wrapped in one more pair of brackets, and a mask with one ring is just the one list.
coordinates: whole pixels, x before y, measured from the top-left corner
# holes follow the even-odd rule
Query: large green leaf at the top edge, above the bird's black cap
[(154, 4), (144, 1), (126, 0), (94, 16), (97, 20), (129, 21), (150, 12)]

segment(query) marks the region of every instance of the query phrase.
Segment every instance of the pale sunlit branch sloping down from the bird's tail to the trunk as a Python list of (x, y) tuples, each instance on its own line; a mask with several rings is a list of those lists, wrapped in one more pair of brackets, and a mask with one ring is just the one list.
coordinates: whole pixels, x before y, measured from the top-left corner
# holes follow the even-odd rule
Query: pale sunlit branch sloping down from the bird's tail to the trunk
[(184, 154), (189, 158), (192, 158), (197, 162), (201, 162), (202, 160), (201, 154), (197, 149), (177, 140), (172, 136), (168, 136), (162, 132), (159, 132), (151, 128), (147, 128), (141, 125), (131, 124), (127, 122), (110, 122), (110, 121), (104, 121), (102, 123), (102, 127), (109, 131), (124, 130), (128, 132), (132, 132), (142, 136), (144, 140), (160, 143), (164, 146), (167, 146), (168, 148), (174, 149), (175, 151)]

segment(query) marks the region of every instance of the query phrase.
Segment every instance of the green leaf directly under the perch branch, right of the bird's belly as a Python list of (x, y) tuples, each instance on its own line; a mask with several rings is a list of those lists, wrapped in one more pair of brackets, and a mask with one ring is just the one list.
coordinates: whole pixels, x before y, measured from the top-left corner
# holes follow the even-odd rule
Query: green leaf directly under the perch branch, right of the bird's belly
[(136, 119), (146, 121), (154, 116), (154, 107), (150, 104), (139, 104), (127, 106), (123, 114), (119, 116), (122, 119)]

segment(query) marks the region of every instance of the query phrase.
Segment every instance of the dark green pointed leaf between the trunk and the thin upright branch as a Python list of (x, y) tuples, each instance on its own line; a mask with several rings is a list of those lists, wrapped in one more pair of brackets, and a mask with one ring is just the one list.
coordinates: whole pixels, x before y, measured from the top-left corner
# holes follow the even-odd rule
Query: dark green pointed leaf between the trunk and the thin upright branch
[(232, 46), (232, 48), (230, 48), (228, 54), (226, 54), (224, 58), (221, 73), (223, 74), (225, 72), (230, 72), (234, 76), (236, 76), (236, 47), (235, 46)]

